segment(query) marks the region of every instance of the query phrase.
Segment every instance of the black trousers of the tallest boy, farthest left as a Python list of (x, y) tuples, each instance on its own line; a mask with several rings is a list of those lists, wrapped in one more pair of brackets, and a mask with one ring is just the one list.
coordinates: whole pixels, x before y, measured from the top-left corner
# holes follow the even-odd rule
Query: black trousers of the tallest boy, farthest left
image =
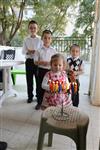
[(36, 94), (37, 94), (37, 76), (38, 76), (38, 67), (34, 64), (33, 59), (26, 59), (25, 62), (25, 68), (26, 68), (26, 82), (27, 82), (27, 94), (28, 99), (32, 100), (33, 98), (33, 75), (35, 76), (36, 81)]

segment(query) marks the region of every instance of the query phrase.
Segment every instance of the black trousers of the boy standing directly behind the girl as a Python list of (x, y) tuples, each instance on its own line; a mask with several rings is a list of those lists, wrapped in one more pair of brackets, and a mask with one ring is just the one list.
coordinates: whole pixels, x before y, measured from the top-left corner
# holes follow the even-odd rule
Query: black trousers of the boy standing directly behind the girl
[(38, 85), (37, 85), (37, 103), (38, 105), (42, 104), (43, 101), (43, 95), (45, 90), (42, 89), (42, 81), (45, 76), (45, 74), (48, 72), (48, 69), (38, 68)]

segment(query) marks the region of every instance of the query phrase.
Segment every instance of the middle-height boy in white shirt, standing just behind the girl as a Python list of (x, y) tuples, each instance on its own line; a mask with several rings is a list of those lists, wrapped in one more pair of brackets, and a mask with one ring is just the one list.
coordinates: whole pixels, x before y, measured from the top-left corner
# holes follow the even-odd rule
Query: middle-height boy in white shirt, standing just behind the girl
[(37, 86), (37, 105), (36, 110), (40, 109), (44, 90), (42, 89), (42, 80), (46, 72), (50, 70), (51, 56), (56, 53), (56, 50), (51, 47), (52, 32), (50, 30), (44, 30), (42, 33), (43, 46), (38, 51), (38, 57), (35, 63), (38, 65), (38, 86)]

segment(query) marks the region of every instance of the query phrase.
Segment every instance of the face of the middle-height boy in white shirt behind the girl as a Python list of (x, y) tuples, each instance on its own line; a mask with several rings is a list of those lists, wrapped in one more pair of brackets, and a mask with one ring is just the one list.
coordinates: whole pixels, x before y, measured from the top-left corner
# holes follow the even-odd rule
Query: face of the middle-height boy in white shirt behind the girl
[(43, 40), (43, 44), (45, 47), (49, 47), (51, 42), (52, 42), (52, 36), (51, 34), (48, 34), (48, 33), (44, 33), (43, 37), (42, 37), (42, 40)]

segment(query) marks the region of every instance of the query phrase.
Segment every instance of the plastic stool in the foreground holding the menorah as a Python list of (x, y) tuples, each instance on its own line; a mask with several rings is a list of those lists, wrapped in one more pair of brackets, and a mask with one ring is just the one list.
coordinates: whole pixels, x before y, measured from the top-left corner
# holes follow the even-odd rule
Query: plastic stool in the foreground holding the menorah
[(77, 150), (86, 150), (86, 134), (89, 117), (76, 107), (64, 107), (66, 119), (57, 120), (54, 114), (61, 111), (61, 107), (49, 107), (41, 115), (40, 131), (37, 150), (42, 150), (44, 136), (48, 133), (48, 146), (52, 146), (53, 133), (70, 137), (76, 143)]

